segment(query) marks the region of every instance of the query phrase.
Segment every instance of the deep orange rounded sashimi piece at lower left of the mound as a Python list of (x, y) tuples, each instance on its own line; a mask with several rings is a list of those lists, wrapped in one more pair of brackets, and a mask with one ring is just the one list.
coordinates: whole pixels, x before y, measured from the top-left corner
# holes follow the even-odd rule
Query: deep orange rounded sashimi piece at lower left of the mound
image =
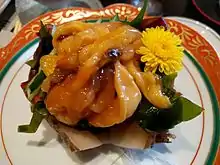
[[(55, 86), (48, 93), (45, 100), (48, 111), (57, 118), (68, 125), (76, 124), (81, 118), (88, 114), (87, 107), (93, 102), (95, 93), (90, 83), (86, 84), (83, 88), (71, 92), (71, 81), (75, 77), (69, 76), (64, 82)], [(68, 120), (65, 120), (68, 119)], [(63, 122), (61, 121), (61, 122)]]

